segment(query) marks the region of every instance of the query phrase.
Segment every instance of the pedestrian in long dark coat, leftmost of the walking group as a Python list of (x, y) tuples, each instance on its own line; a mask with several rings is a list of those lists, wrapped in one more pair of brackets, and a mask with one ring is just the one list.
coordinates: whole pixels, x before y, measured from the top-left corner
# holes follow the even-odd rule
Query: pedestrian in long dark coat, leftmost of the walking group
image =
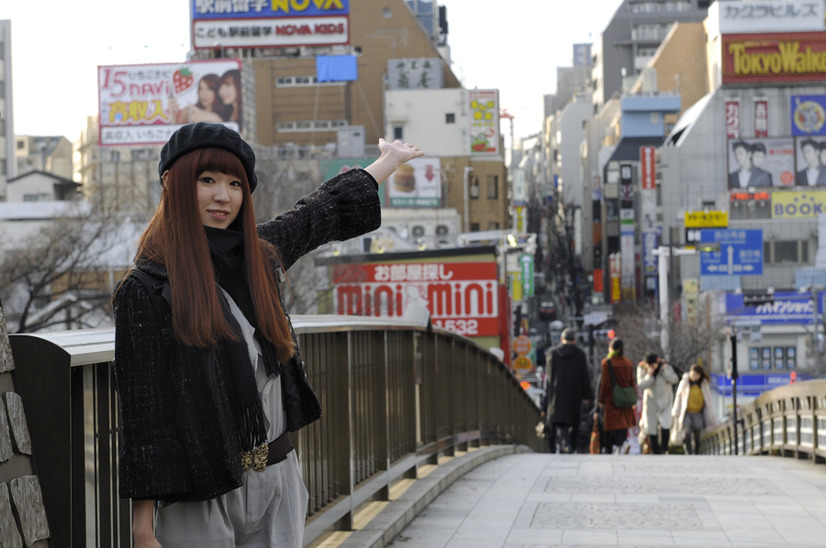
[(576, 345), (576, 331), (562, 332), (562, 343), (546, 357), (545, 395), (542, 397), (542, 417), (553, 431), (555, 447), (551, 452), (573, 453), (576, 447), (575, 428), (582, 417), (582, 403), (594, 398), (588, 359)]

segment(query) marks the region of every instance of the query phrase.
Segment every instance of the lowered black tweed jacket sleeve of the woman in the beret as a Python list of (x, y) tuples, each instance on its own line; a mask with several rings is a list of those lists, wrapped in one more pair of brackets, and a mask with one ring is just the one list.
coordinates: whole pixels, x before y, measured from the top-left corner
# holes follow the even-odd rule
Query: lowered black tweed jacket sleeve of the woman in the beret
[(120, 495), (148, 499), (187, 490), (164, 463), (183, 461), (174, 402), (165, 397), (168, 367), (161, 326), (140, 282), (126, 278), (114, 299), (114, 374), (121, 409)]

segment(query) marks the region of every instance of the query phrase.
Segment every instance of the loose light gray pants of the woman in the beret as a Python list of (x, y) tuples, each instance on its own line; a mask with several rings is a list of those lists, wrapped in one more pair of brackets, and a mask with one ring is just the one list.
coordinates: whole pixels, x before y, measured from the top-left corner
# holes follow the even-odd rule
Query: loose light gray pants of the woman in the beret
[(263, 472), (244, 472), (243, 480), (207, 501), (161, 503), (155, 529), (161, 545), (301, 548), (308, 495), (295, 451)]

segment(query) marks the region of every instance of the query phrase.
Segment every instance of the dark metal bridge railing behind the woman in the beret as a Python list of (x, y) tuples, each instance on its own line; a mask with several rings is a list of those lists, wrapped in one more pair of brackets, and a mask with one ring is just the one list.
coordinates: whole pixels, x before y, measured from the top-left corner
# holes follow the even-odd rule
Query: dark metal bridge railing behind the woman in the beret
[[(349, 529), (401, 478), (472, 447), (545, 449), (539, 409), (493, 354), (440, 329), (352, 316), (293, 318), (323, 417), (293, 435), (310, 493), (305, 544)], [(117, 493), (114, 330), (10, 335), (55, 546), (131, 546)]]

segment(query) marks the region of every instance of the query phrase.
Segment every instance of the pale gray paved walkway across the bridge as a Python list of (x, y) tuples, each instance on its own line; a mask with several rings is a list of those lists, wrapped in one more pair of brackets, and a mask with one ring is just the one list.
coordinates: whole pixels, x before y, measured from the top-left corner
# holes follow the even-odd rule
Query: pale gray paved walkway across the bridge
[(464, 473), (405, 521), (421, 497), (408, 491), (338, 545), (826, 546), (826, 465), (790, 458), (509, 454)]

